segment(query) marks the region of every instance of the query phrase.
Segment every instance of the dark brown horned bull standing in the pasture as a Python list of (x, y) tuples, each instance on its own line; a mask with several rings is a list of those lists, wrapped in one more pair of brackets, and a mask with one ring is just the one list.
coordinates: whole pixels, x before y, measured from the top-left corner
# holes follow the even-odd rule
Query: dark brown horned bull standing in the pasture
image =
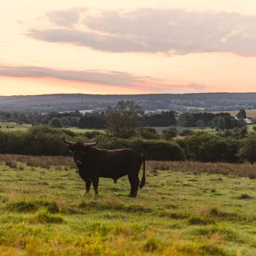
[[(94, 146), (95, 143), (75, 143), (64, 138), (69, 146), (69, 151), (76, 165), (79, 175), (86, 182), (86, 193), (89, 193), (91, 183), (94, 192), (98, 194), (99, 177), (118, 178), (128, 176), (131, 185), (129, 197), (136, 197), (138, 187), (142, 189), (146, 183), (145, 157), (142, 153), (132, 148), (105, 150)], [(140, 182), (139, 172), (143, 163), (143, 178)]]

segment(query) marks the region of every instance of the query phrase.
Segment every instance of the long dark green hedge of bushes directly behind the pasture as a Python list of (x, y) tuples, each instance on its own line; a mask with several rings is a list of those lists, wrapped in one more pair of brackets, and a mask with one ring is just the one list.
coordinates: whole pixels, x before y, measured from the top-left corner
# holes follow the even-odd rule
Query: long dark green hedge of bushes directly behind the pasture
[(0, 154), (27, 154), (68, 156), (63, 138), (76, 142), (99, 141), (99, 148), (136, 148), (147, 159), (201, 162), (250, 162), (256, 161), (256, 134), (235, 128), (230, 132), (210, 135), (194, 132), (184, 137), (165, 139), (158, 135), (148, 137), (154, 129), (138, 132), (131, 138), (118, 138), (109, 133), (75, 133), (68, 129), (48, 126), (30, 127), (25, 131), (0, 131)]

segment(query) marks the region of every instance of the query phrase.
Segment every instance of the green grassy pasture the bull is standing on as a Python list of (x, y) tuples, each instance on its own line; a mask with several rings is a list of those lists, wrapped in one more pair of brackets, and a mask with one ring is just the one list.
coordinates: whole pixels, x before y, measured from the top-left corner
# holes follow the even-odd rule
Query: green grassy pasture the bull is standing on
[(0, 156), (0, 255), (256, 255), (249, 165), (148, 162), (130, 199), (126, 177), (101, 178), (94, 197), (70, 158), (11, 157)]

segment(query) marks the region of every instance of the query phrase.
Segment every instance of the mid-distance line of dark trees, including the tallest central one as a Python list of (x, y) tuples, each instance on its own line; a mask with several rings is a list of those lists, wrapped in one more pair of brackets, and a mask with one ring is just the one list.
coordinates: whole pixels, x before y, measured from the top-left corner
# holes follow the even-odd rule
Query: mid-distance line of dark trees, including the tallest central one
[[(235, 118), (230, 113), (176, 113), (174, 111), (162, 111), (146, 114), (140, 105), (132, 101), (118, 102), (114, 107), (108, 107), (105, 112), (80, 113), (72, 112), (49, 112), (49, 113), (23, 113), (23, 112), (0, 112), (2, 121), (13, 121), (20, 124), (47, 124), (51, 127), (78, 127), (80, 129), (107, 129), (118, 127), (118, 136), (122, 129), (140, 127), (211, 127), (212, 129), (225, 130), (234, 127), (243, 127), (246, 118), (245, 110), (240, 110)], [(116, 124), (115, 124), (116, 122)], [(133, 123), (127, 126), (127, 122)], [(127, 132), (124, 132), (127, 133)], [(129, 133), (129, 132), (128, 132)], [(127, 135), (128, 135), (127, 133)], [(127, 136), (125, 135), (125, 136)]]

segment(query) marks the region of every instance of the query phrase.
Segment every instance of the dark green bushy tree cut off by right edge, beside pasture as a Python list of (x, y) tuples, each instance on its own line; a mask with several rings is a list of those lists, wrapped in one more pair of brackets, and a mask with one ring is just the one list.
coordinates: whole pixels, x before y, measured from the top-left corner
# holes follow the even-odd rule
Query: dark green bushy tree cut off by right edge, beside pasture
[(239, 149), (238, 156), (247, 160), (252, 165), (256, 160), (256, 135), (250, 134), (242, 140), (242, 146)]

